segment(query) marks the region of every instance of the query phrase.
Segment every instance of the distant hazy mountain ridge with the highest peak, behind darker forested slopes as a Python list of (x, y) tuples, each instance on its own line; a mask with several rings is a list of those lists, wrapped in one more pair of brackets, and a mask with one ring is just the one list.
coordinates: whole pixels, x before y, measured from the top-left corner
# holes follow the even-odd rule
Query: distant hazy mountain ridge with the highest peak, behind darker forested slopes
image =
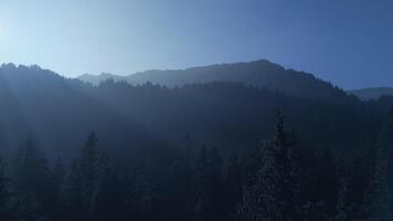
[(84, 74), (81, 81), (94, 85), (113, 78), (115, 82), (125, 81), (131, 85), (151, 82), (169, 87), (184, 84), (208, 82), (237, 82), (263, 88), (277, 90), (294, 96), (306, 98), (329, 99), (329, 97), (346, 97), (346, 93), (332, 84), (315, 77), (306, 72), (286, 70), (267, 60), (242, 62), (233, 64), (216, 64), (185, 70), (146, 71), (128, 76), (111, 74)]

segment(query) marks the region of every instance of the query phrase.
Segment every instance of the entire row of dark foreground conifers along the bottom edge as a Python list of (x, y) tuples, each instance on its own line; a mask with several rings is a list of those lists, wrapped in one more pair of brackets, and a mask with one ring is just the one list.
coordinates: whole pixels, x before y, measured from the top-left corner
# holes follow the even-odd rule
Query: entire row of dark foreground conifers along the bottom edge
[[(169, 160), (118, 168), (92, 133), (72, 162), (47, 161), (33, 139), (0, 161), (0, 220), (391, 220), (393, 115), (351, 162), (284, 129), (245, 155), (184, 145)], [(164, 165), (164, 167), (163, 167)]]

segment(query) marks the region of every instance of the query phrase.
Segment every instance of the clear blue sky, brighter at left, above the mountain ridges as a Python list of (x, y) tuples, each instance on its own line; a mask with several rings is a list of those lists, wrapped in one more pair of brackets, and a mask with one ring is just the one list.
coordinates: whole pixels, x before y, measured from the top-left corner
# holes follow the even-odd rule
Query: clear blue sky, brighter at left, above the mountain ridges
[(393, 86), (392, 0), (0, 0), (0, 63), (62, 75), (267, 59)]

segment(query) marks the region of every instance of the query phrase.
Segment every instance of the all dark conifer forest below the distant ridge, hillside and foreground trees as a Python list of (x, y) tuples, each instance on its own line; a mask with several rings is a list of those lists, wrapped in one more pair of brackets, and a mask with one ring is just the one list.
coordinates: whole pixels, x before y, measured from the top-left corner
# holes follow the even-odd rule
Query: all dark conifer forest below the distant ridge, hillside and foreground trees
[(393, 97), (290, 72), (318, 93), (2, 65), (0, 220), (392, 220)]

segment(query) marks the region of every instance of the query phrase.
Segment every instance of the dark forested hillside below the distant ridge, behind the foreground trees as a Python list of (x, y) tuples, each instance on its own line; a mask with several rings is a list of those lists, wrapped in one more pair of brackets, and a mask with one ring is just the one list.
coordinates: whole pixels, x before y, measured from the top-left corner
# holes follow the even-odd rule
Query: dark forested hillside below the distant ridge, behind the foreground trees
[[(285, 76), (291, 76), (282, 75), (289, 84)], [(337, 92), (329, 101), (342, 99), (339, 90), (306, 76), (312, 80), (309, 84), (317, 84), (308, 90), (325, 85)], [(295, 87), (300, 85), (293, 82)], [(331, 103), (296, 95), (234, 82), (168, 88), (106, 81), (92, 86), (38, 66), (7, 64), (0, 69), (0, 141), (18, 147), (33, 136), (52, 155), (73, 152), (86, 134), (95, 130), (106, 148), (125, 152), (151, 143), (178, 146), (190, 133), (199, 143), (241, 150), (272, 136), (274, 113), (280, 108), (308, 143), (349, 151), (348, 146), (363, 145), (363, 138), (373, 136), (369, 129), (379, 125), (378, 118), (367, 116), (371, 108), (363, 109), (360, 102)]]

